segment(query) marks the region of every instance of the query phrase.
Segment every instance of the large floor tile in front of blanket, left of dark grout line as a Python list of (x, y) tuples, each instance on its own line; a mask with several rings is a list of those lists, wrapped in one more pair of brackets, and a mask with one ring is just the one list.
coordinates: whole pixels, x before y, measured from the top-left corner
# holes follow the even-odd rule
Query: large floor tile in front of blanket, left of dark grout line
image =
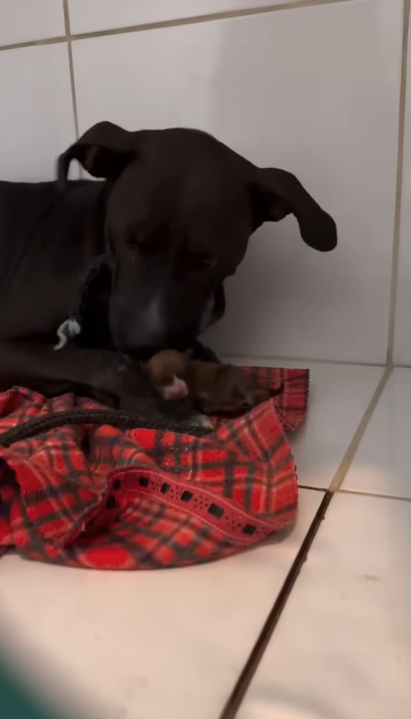
[(81, 704), (107, 719), (214, 719), (321, 500), (302, 490), (281, 541), (199, 567), (91, 572), (3, 557), (2, 646), (7, 633), (22, 674), (73, 715)]

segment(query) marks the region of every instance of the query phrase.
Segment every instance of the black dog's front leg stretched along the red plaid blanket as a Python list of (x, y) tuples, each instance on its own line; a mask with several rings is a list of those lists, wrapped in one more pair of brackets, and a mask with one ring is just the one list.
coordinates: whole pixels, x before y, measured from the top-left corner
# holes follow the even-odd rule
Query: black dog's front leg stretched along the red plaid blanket
[(159, 398), (138, 362), (119, 352), (30, 342), (0, 343), (0, 391), (13, 385), (46, 397), (66, 392), (94, 398), (135, 415), (136, 426), (204, 434), (210, 425), (183, 403)]

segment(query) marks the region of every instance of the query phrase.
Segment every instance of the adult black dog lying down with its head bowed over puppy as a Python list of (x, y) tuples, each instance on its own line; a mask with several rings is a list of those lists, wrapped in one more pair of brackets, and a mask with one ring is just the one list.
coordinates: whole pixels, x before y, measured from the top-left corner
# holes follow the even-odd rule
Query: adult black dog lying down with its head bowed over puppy
[[(66, 181), (71, 160), (104, 181)], [(222, 316), (250, 235), (290, 213), (310, 247), (335, 247), (333, 219), (284, 170), (193, 129), (91, 127), (60, 156), (57, 182), (0, 183), (0, 389), (130, 407), (125, 355), (192, 346)], [(78, 293), (80, 334), (55, 352)]]

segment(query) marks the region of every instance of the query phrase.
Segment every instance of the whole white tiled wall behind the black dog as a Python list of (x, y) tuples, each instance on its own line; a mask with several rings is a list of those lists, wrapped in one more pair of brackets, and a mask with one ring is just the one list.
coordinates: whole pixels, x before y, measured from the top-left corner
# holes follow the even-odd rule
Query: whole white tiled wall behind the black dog
[[(276, 4), (69, 0), (73, 33)], [(294, 171), (338, 221), (331, 255), (305, 247), (293, 219), (256, 234), (208, 335), (220, 352), (384, 362), (401, 30), (402, 0), (347, 0), (73, 43), (81, 129), (102, 118), (204, 127), (261, 165)], [(64, 32), (63, 1), (0, 0), (0, 45)], [(411, 71), (394, 336), (394, 361), (405, 364), (410, 83)], [(66, 45), (0, 52), (0, 106), (0, 178), (52, 177), (73, 139)]]

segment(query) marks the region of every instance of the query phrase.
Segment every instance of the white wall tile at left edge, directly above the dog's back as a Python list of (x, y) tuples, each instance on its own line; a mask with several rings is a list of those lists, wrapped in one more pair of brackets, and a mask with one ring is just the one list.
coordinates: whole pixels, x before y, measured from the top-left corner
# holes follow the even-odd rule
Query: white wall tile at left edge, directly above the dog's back
[(0, 52), (0, 108), (0, 179), (53, 179), (74, 139), (66, 43)]

